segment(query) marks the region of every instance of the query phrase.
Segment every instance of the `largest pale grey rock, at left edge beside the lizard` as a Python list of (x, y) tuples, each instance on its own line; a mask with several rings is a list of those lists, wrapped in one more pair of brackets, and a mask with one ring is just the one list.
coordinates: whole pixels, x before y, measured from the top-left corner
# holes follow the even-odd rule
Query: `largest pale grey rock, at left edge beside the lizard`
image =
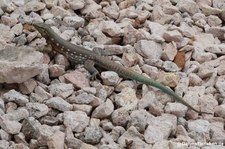
[(42, 71), (43, 54), (30, 47), (0, 50), (0, 83), (22, 83)]

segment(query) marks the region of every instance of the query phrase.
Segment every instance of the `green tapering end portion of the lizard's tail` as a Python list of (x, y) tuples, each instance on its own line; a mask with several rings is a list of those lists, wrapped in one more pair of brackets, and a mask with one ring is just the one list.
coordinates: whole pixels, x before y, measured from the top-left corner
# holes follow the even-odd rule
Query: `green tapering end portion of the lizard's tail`
[(188, 108), (190, 108), (191, 110), (193, 110), (193, 111), (195, 111), (195, 112), (197, 112), (199, 114), (202, 114), (202, 113), (209, 114), (207, 112), (201, 112), (201, 111), (196, 110), (190, 104), (188, 104), (186, 101), (184, 101), (183, 98), (179, 97), (173, 90), (171, 90), (170, 88), (162, 85), (159, 82), (151, 80), (151, 79), (149, 79), (149, 78), (147, 78), (147, 77), (145, 77), (143, 75), (138, 75), (138, 76), (136, 76), (135, 78), (132, 78), (132, 79), (134, 79), (136, 81), (139, 81), (141, 83), (147, 84), (147, 85), (154, 86), (154, 87), (160, 89), (161, 91), (165, 92), (166, 94), (174, 97), (176, 101), (182, 103), (183, 105), (187, 106)]

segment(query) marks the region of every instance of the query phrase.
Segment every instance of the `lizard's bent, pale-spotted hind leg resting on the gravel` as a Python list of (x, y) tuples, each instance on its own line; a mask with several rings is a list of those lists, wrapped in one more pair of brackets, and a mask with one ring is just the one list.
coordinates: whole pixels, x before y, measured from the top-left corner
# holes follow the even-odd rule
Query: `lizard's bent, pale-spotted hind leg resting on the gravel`
[(94, 67), (94, 65), (95, 62), (92, 60), (87, 60), (84, 62), (84, 68), (91, 73), (91, 80), (97, 80), (97, 76), (100, 76), (99, 71)]

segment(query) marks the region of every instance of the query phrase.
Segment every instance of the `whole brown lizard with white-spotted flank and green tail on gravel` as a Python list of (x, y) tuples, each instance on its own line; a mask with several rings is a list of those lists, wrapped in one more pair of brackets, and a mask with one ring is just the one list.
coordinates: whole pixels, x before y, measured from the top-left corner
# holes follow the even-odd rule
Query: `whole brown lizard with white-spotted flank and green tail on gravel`
[(92, 74), (92, 77), (95, 77), (96, 75), (99, 74), (95, 66), (98, 66), (105, 70), (114, 71), (123, 78), (135, 80), (143, 84), (150, 85), (160, 89), (164, 93), (172, 96), (177, 102), (180, 102), (181, 104), (187, 106), (189, 109), (199, 114), (203, 114), (203, 113), (209, 114), (207, 112), (202, 112), (195, 109), (189, 103), (187, 103), (183, 98), (178, 96), (172, 89), (164, 86), (160, 82), (152, 80), (127, 67), (117, 64), (109, 60), (109, 58), (100, 55), (99, 53), (95, 53), (82, 46), (78, 46), (78, 45), (70, 43), (69, 41), (64, 40), (57, 33), (53, 31), (50, 25), (47, 25), (45, 23), (39, 23), (39, 22), (33, 22), (32, 25), (37, 29), (37, 31), (42, 35), (42, 37), (46, 39), (47, 44), (50, 44), (52, 46), (53, 50), (64, 55), (67, 59), (69, 59), (72, 62), (83, 64), (84, 68)]

